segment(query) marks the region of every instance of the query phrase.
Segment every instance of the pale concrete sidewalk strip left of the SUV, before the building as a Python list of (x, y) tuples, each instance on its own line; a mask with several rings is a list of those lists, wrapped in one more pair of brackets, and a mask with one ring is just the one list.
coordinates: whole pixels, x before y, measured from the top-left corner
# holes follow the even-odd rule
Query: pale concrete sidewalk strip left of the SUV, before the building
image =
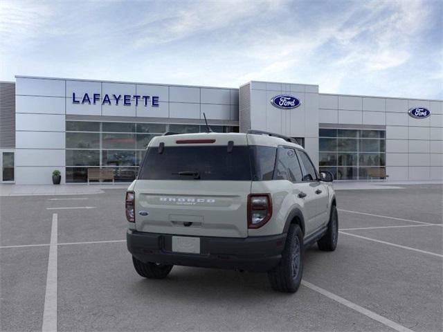
[(71, 185), (10, 185), (0, 184), (0, 196), (54, 196), (102, 194), (104, 189), (127, 189), (129, 183)]

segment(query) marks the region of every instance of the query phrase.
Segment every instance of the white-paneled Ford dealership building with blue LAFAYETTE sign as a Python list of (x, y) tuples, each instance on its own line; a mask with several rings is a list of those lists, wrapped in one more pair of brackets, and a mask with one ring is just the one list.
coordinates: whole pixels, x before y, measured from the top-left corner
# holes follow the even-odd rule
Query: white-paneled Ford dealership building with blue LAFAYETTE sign
[(152, 137), (205, 131), (204, 113), (213, 131), (295, 138), (337, 180), (443, 180), (442, 100), (28, 76), (0, 82), (0, 180), (50, 184), (58, 169), (87, 183), (89, 169), (112, 169), (130, 182)]

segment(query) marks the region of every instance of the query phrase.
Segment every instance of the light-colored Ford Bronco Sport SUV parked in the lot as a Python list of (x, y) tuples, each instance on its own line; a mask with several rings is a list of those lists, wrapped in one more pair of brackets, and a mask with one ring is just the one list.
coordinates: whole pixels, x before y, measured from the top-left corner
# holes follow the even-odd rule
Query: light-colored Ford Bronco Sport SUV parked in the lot
[(153, 138), (126, 194), (134, 267), (154, 279), (174, 265), (261, 271), (296, 292), (304, 248), (337, 245), (331, 182), (291, 138), (264, 131)]

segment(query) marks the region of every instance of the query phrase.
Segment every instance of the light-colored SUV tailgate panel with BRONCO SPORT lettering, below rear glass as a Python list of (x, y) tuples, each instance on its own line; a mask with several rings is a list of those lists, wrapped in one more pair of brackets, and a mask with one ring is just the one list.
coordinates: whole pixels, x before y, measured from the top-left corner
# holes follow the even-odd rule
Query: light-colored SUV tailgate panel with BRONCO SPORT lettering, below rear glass
[(134, 192), (139, 232), (247, 237), (251, 181), (138, 180)]

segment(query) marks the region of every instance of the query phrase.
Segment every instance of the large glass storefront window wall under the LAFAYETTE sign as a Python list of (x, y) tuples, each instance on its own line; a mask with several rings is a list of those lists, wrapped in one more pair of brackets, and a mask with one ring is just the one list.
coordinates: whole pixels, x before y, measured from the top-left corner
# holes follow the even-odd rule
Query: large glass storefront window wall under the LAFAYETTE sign
[[(211, 126), (215, 132), (238, 132), (239, 127)], [(165, 131), (198, 133), (200, 124), (66, 121), (66, 183), (87, 182), (89, 168), (114, 169), (115, 181), (134, 180), (145, 149)]]

